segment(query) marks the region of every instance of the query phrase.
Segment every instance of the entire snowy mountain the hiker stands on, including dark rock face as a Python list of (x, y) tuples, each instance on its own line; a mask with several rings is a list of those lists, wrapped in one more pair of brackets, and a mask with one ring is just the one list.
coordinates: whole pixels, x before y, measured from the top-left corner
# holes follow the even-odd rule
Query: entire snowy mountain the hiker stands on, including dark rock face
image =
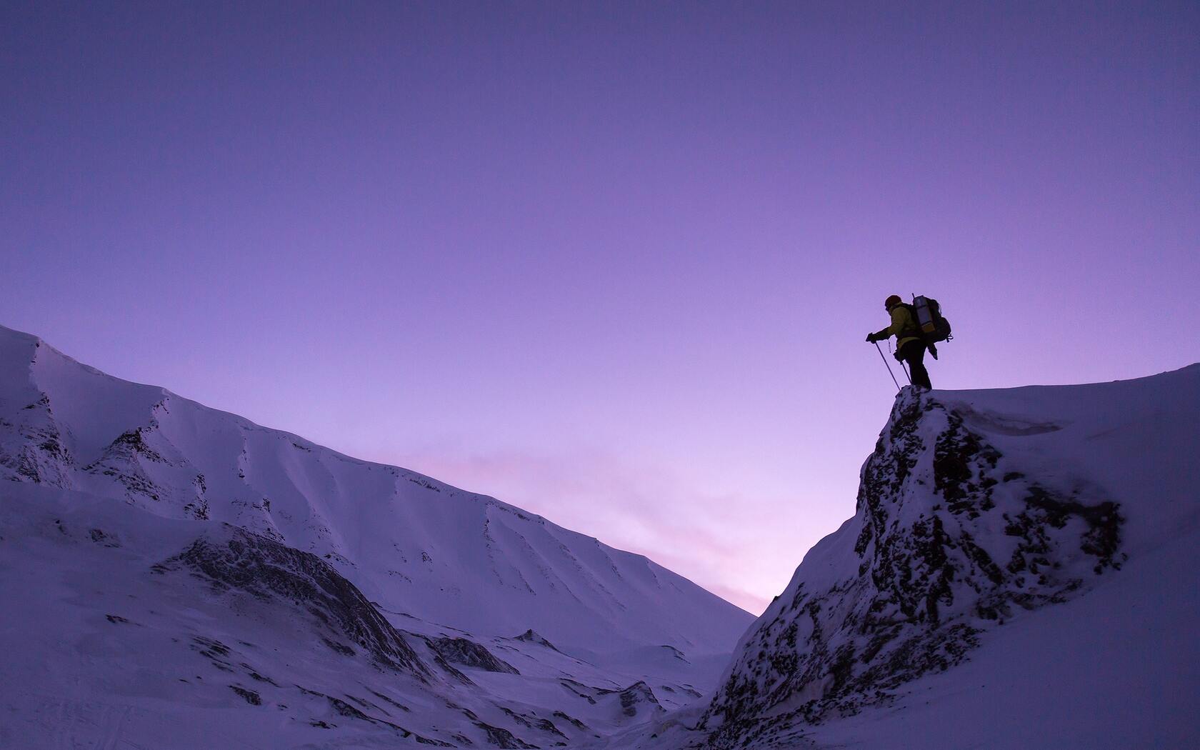
[(898, 396), (707, 708), (611, 748), (1200, 744), (1200, 365)]

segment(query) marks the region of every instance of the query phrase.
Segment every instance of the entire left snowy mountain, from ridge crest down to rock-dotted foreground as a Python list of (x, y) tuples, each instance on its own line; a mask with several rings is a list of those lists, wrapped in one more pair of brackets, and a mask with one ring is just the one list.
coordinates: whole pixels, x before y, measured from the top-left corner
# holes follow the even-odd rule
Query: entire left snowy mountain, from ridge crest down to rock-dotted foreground
[(0, 479), (6, 748), (571, 745), (701, 697), (752, 622), (2, 328)]

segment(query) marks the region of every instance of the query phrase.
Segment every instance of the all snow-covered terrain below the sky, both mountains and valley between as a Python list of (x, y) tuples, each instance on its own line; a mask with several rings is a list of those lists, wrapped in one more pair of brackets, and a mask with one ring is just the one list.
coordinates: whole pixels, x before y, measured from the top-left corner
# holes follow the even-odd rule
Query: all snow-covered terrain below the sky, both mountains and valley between
[(1198, 457), (1200, 365), (906, 389), (754, 620), (0, 329), (0, 748), (1196, 746)]

